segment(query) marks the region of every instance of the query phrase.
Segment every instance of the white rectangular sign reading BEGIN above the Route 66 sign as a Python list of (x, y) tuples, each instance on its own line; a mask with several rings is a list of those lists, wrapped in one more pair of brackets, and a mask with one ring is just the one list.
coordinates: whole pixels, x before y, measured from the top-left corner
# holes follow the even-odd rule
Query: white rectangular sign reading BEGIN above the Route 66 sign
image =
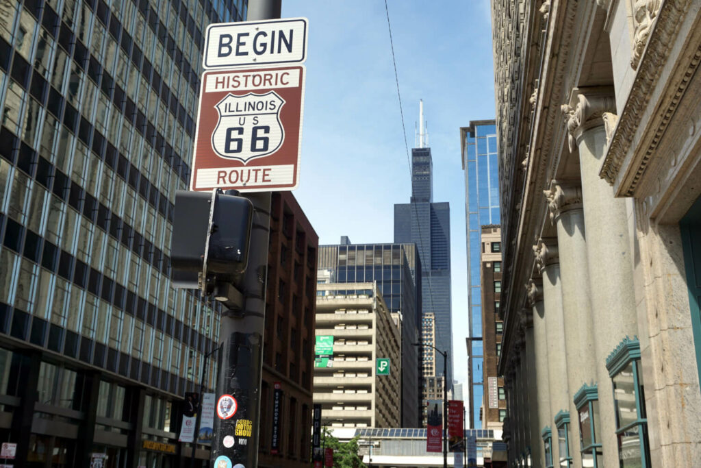
[(205, 69), (306, 60), (306, 18), (215, 23), (207, 27), (205, 36)]

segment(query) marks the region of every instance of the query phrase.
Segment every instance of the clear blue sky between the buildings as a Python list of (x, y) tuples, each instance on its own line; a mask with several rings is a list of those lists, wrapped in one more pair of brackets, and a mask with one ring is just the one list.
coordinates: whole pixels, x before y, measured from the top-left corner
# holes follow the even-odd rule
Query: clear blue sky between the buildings
[[(404, 128), (414, 147), (423, 99), (433, 201), (451, 209), (454, 372), (466, 382), (465, 175), (460, 127), (494, 119), (489, 0), (389, 0)], [(411, 173), (382, 0), (283, 0), (309, 20), (301, 175), (294, 192), (320, 243), (392, 242)], [(467, 392), (466, 386), (464, 391)], [(465, 399), (467, 394), (463, 395)]]

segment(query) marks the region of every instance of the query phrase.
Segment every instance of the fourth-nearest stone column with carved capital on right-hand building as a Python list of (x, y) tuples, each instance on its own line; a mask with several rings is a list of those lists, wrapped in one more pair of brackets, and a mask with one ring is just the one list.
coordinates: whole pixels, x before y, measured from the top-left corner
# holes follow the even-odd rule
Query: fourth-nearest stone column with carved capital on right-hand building
[[(550, 383), (547, 374), (547, 336), (545, 335), (545, 306), (543, 305), (543, 279), (531, 279), (526, 284), (528, 302), (533, 314), (533, 379), (536, 382), (533, 391), (536, 402), (531, 403), (537, 411), (531, 414), (531, 450), (533, 466), (545, 467), (543, 457), (543, 440), (540, 432), (550, 426), (555, 415), (550, 414)], [(533, 417), (537, 415), (537, 417)]]

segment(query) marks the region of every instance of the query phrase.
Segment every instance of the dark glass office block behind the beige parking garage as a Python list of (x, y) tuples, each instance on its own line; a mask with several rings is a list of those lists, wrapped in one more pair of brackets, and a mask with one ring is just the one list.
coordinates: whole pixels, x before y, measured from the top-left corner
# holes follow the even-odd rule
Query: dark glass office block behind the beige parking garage
[[(402, 317), (402, 427), (418, 427), (418, 309), (421, 305), (421, 263), (413, 243), (320, 246), (318, 269), (329, 271), (332, 283), (376, 281), (389, 312)], [(416, 286), (418, 285), (418, 287)]]

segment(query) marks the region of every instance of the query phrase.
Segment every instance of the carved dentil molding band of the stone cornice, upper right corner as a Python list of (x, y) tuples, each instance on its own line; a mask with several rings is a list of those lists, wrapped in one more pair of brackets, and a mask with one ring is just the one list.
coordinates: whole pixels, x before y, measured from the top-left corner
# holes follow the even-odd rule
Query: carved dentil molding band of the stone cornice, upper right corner
[[(620, 170), (634, 141), (635, 133), (641, 124), (640, 117), (645, 114), (653, 89), (665, 68), (669, 53), (676, 42), (679, 27), (691, 3), (688, 0), (665, 0), (660, 7), (657, 20), (650, 33), (648, 46), (640, 60), (630, 94), (625, 107), (620, 112), (618, 123), (608, 145), (606, 158), (601, 165), (601, 171), (599, 171), (601, 178), (604, 178), (611, 185), (614, 185), (619, 178)], [(676, 72), (676, 76), (681, 75), (676, 93), (671, 95), (665, 106), (660, 107), (655, 112), (656, 124), (650, 125), (650, 131), (646, 132), (646, 135), (651, 135), (651, 140), (648, 145), (645, 145), (643, 154), (634, 158), (637, 160), (637, 169), (633, 169), (635, 173), (629, 177), (625, 184), (620, 182), (621, 187), (616, 189), (618, 196), (632, 196), (634, 194), (640, 178), (646, 171), (648, 161), (662, 139), (669, 120), (672, 119), (699, 60), (701, 60), (701, 51), (697, 50), (686, 69), (679, 69)], [(632, 161), (629, 164), (632, 165)]]

